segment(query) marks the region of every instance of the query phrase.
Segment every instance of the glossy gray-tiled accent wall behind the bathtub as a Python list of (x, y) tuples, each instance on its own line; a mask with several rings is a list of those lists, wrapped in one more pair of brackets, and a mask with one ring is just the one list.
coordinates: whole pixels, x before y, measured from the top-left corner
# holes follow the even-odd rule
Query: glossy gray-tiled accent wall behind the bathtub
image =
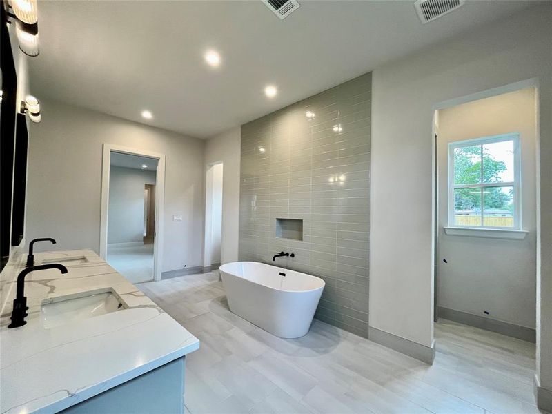
[[(307, 111), (315, 114), (309, 119)], [(239, 259), (322, 277), (316, 317), (368, 336), (371, 74), (242, 126)], [(303, 240), (276, 219), (303, 219)]]

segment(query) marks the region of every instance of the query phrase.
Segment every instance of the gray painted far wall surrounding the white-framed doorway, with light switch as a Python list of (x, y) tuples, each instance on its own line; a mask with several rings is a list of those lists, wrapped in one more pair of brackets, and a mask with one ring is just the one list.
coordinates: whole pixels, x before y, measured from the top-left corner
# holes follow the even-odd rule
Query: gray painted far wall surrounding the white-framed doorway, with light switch
[[(163, 271), (203, 262), (205, 141), (41, 100), (42, 121), (30, 126), (27, 242), (54, 237), (37, 251), (99, 250), (104, 143), (166, 155)], [(172, 221), (172, 215), (182, 221)], [(199, 219), (198, 219), (199, 217)]]

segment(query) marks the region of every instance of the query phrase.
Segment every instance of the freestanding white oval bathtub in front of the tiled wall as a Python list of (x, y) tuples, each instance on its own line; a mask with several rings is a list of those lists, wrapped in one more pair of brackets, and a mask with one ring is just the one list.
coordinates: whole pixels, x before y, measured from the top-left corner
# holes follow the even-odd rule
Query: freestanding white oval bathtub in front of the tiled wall
[(223, 264), (220, 274), (230, 311), (278, 337), (308, 333), (324, 280), (257, 262)]

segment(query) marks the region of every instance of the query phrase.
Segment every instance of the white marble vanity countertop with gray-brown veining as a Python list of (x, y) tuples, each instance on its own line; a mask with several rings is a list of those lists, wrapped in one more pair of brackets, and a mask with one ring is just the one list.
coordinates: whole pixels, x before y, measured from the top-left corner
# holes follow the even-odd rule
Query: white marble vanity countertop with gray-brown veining
[[(68, 268), (27, 275), (27, 324), (8, 329), (26, 256), (0, 275), (0, 413), (56, 413), (199, 348), (199, 340), (92, 250), (34, 255)], [(111, 290), (126, 308), (45, 328), (46, 299)]]

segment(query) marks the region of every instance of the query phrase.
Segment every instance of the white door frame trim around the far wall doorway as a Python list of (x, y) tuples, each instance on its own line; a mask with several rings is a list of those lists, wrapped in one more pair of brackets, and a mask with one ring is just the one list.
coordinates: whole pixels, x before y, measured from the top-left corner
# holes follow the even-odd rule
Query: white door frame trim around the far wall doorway
[(165, 161), (166, 155), (138, 148), (129, 148), (115, 144), (103, 144), (103, 161), (101, 168), (101, 210), (99, 228), (99, 255), (107, 259), (108, 251), (108, 210), (109, 210), (109, 174), (111, 152), (139, 155), (157, 159), (155, 175), (155, 233), (153, 239), (153, 279), (161, 280), (161, 257), (163, 257), (163, 219), (165, 202)]

